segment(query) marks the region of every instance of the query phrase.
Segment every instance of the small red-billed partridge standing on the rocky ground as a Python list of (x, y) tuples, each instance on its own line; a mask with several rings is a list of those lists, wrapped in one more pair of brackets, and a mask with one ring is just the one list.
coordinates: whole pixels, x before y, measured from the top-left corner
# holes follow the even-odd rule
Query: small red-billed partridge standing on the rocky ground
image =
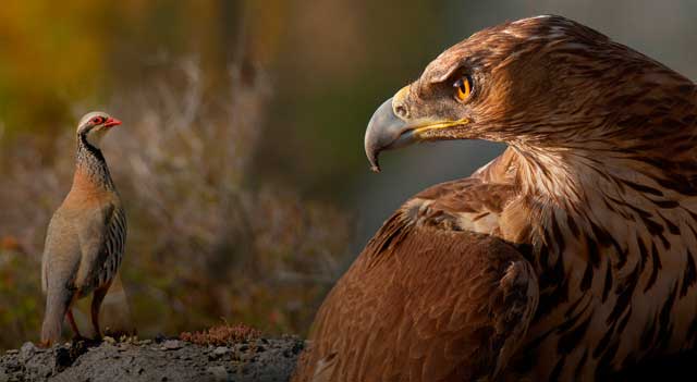
[(101, 333), (99, 308), (123, 259), (126, 218), (99, 144), (120, 124), (105, 112), (91, 112), (77, 126), (73, 185), (51, 218), (41, 261), (41, 286), (47, 296), (44, 345), (60, 340), (65, 316), (81, 337), (72, 307), (90, 293), (91, 323), (96, 335)]

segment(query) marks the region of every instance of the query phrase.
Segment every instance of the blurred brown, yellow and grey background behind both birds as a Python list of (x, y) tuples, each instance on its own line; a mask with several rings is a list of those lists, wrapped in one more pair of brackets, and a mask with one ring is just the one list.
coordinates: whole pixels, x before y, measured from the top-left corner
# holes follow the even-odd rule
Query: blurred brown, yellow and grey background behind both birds
[[(502, 147), (389, 152), (372, 111), (472, 33), (555, 13), (697, 78), (697, 2), (10, 1), (0, 8), (0, 348), (37, 341), (40, 256), (80, 116), (129, 218), (122, 280), (140, 336), (245, 322), (306, 334), (332, 283), (409, 195)], [(83, 316), (78, 320), (84, 320)]]

